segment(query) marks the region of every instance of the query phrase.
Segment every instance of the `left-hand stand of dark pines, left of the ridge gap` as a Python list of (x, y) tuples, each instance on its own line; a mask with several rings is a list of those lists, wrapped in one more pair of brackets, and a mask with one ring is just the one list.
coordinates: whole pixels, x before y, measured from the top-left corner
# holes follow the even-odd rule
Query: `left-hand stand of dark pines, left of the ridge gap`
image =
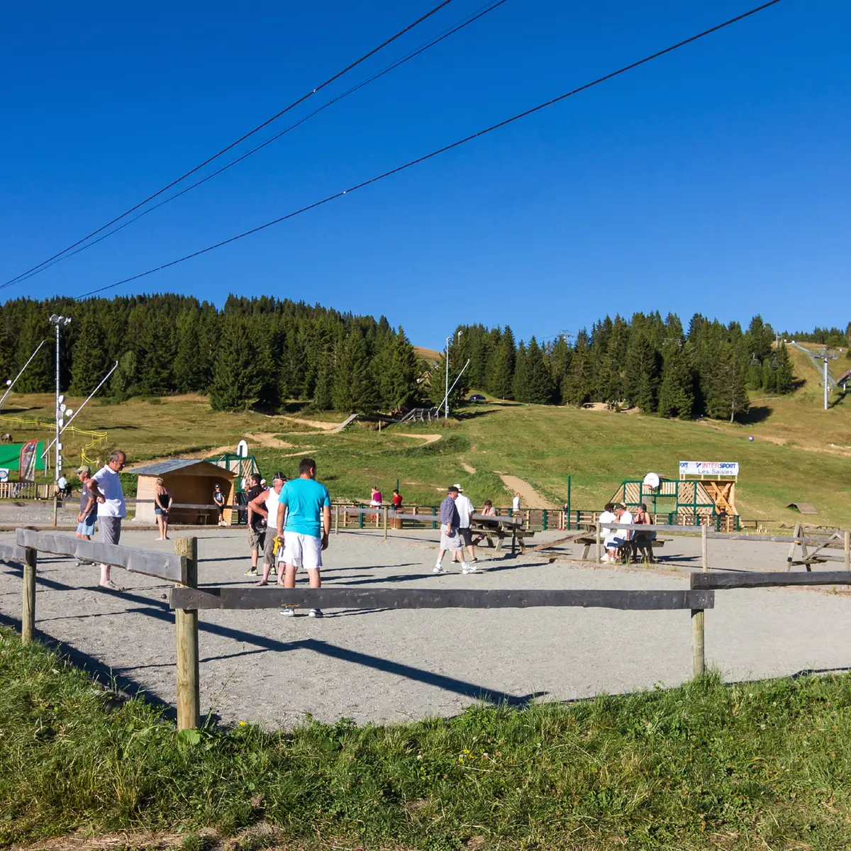
[[(402, 328), (266, 296), (230, 296), (222, 310), (181, 295), (112, 300), (18, 299), (0, 307), (0, 377), (14, 377), (38, 342), (62, 329), (63, 389), (85, 395), (118, 362), (106, 389), (131, 396), (208, 393), (220, 410), (288, 399), (347, 412), (396, 411), (418, 399), (424, 365)], [(15, 386), (54, 388), (54, 348), (44, 346)]]

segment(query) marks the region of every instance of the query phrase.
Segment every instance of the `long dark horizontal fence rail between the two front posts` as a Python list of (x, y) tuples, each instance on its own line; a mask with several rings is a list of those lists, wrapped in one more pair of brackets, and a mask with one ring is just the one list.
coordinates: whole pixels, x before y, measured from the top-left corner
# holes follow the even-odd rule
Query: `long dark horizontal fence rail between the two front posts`
[(420, 588), (173, 588), (171, 608), (714, 608), (712, 591), (503, 591)]

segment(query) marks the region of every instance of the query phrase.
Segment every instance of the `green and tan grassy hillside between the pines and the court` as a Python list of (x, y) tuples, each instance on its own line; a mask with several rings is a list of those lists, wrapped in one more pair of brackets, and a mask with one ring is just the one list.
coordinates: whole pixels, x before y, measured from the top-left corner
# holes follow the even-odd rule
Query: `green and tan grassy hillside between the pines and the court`
[[(526, 480), (551, 505), (563, 502), (570, 475), (573, 505), (591, 508), (602, 505), (624, 479), (648, 471), (676, 477), (680, 460), (739, 461), (737, 505), (743, 517), (794, 522), (800, 516), (785, 505), (802, 500), (818, 507), (818, 522), (851, 525), (851, 402), (834, 393), (832, 407), (822, 410), (818, 370), (802, 352), (791, 350), (791, 356), (799, 389), (790, 397), (753, 394), (745, 424), (493, 403), (468, 406), (447, 426), (393, 426), (381, 432), (353, 426), (336, 434), (321, 426), (341, 420), (339, 414), (308, 421), (220, 414), (211, 412), (203, 397), (93, 403), (77, 423), (108, 431), (109, 446), (124, 448), (131, 461), (212, 454), (235, 448), (248, 436), (264, 472), (294, 473), (300, 454), (310, 453), (334, 495), (368, 499), (373, 483), (389, 495), (398, 479), (408, 502), (427, 504), (452, 482), (464, 483), (474, 501), (489, 497), (505, 504), (508, 494), (497, 475), (505, 473)], [(831, 368), (838, 374), (843, 362)], [(16, 397), (4, 414), (47, 420), (52, 408), (51, 397)], [(38, 433), (3, 420), (6, 416), (0, 417), (0, 431), (11, 431), (15, 440)], [(430, 434), (440, 439), (427, 443)], [(66, 453), (78, 460), (82, 439), (65, 443)]]

